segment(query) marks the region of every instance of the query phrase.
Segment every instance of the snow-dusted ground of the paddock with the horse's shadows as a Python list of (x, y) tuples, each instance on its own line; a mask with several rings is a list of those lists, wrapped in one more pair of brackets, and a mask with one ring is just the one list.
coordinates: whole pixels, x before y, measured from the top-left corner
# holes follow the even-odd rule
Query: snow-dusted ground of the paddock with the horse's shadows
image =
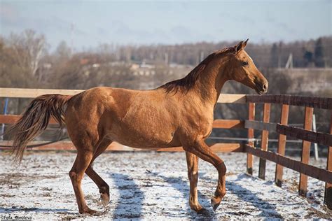
[[(267, 163), (266, 180), (245, 171), (246, 154), (219, 154), (228, 167), (227, 194), (216, 213), (210, 196), (216, 188), (213, 166), (200, 160), (199, 200), (209, 219), (228, 218), (332, 218), (323, 205), (324, 183), (309, 178), (307, 199), (298, 197), (298, 173), (284, 169), (282, 188), (273, 183), (275, 164)], [(189, 184), (184, 152), (108, 152), (98, 157), (94, 169), (110, 186), (111, 201), (105, 209), (99, 190), (85, 176), (83, 192), (90, 208), (104, 211), (90, 216), (78, 213), (68, 172), (73, 152), (27, 152), (20, 167), (11, 165), (6, 152), (0, 156), (0, 216), (34, 219), (205, 219), (188, 206)], [(312, 164), (324, 168), (326, 160)]]

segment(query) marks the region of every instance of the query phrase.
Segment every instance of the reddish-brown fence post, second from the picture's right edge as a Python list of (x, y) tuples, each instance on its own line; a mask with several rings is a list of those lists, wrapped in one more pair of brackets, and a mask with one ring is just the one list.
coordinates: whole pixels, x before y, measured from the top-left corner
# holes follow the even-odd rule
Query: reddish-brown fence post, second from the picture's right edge
[[(304, 129), (312, 129), (312, 114), (314, 113), (314, 108), (305, 107), (305, 119), (303, 123)], [(310, 158), (310, 145), (309, 141), (302, 142), (302, 156), (301, 162), (308, 164)], [(300, 173), (300, 183), (298, 185), (298, 194), (303, 197), (307, 196), (307, 176), (303, 173)]]

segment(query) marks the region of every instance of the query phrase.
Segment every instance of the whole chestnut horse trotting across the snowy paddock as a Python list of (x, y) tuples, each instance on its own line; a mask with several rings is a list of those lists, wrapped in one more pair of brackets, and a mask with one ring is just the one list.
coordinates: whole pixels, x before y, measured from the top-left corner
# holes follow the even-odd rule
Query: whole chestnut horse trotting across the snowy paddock
[(226, 194), (226, 166), (209, 149), (205, 138), (212, 131), (221, 88), (227, 80), (236, 80), (258, 94), (268, 89), (268, 81), (244, 51), (247, 41), (212, 53), (186, 77), (154, 90), (95, 87), (74, 96), (37, 97), (10, 130), (16, 162), (22, 160), (27, 143), (46, 129), (50, 116), (60, 127), (65, 124), (77, 149), (69, 176), (78, 211), (93, 214), (96, 211), (85, 204), (81, 181), (86, 173), (99, 187), (102, 204), (109, 203), (109, 185), (91, 164), (113, 141), (133, 148), (182, 146), (188, 164), (189, 205), (198, 213), (207, 213), (198, 202), (199, 157), (215, 166), (219, 174), (211, 199), (216, 210)]

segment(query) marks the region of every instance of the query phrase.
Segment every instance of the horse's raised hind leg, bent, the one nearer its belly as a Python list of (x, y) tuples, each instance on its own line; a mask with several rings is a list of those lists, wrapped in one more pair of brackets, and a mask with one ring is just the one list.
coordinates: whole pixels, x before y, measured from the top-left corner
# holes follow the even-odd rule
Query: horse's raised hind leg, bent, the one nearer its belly
[(112, 141), (104, 138), (102, 142), (97, 146), (95, 153), (93, 154), (92, 160), (88, 169), (86, 169), (85, 173), (95, 182), (97, 187), (99, 188), (100, 199), (102, 200), (102, 204), (106, 206), (109, 203), (109, 185), (95, 172), (92, 168), (92, 162), (102, 154), (106, 150), (106, 148), (112, 143)]

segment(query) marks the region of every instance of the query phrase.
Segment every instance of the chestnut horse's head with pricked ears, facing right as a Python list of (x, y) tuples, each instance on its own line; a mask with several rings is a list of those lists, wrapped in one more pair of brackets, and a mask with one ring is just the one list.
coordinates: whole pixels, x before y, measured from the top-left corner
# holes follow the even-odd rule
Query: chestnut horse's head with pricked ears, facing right
[(251, 57), (244, 51), (247, 41), (241, 41), (234, 47), (229, 59), (228, 78), (253, 88), (258, 94), (264, 94), (268, 91), (268, 80), (261, 71), (258, 71)]

